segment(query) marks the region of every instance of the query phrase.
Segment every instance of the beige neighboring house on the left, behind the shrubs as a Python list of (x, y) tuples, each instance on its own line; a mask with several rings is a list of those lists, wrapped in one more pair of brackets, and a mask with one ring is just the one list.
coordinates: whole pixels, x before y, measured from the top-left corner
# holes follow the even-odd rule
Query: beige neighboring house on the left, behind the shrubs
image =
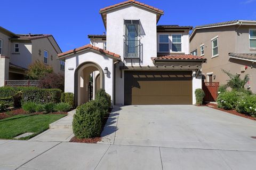
[(52, 35), (14, 34), (0, 27), (0, 86), (4, 80), (24, 79), (29, 64), (36, 60), (64, 75), (65, 62), (55, 59), (61, 49)]

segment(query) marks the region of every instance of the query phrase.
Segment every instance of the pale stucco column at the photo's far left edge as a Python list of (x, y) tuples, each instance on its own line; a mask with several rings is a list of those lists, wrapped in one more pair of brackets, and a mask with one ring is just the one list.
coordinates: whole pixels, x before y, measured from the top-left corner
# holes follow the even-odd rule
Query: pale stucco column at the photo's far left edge
[(0, 56), (0, 87), (4, 86), (4, 80), (9, 79), (9, 58)]

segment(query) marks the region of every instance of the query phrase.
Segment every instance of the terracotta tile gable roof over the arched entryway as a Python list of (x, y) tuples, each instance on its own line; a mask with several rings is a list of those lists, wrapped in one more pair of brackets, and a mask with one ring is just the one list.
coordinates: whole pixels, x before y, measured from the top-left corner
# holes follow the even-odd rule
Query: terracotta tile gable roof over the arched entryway
[(87, 44), (87, 45), (84, 45), (84, 46), (82, 46), (82, 47), (75, 48), (75, 49), (73, 49), (73, 50), (69, 50), (69, 51), (67, 51), (67, 52), (59, 53), (59, 54), (58, 54), (58, 57), (61, 57), (61, 56), (63, 56), (63, 55), (67, 55), (67, 54), (76, 53), (76, 52), (78, 52), (78, 51), (85, 50), (86, 48), (89, 48), (89, 49), (92, 49), (92, 50), (96, 50), (96, 51), (102, 52), (102, 53), (107, 54), (107, 55), (110, 55), (110, 56), (114, 56), (114, 57), (117, 58), (117, 59), (120, 59), (120, 58), (121, 58), (121, 56), (118, 55), (118, 54), (115, 54), (115, 53), (110, 52), (110, 51), (107, 51), (107, 50), (103, 50), (103, 49), (101, 49), (101, 48), (99, 48), (99, 47), (95, 47), (95, 46), (93, 46), (93, 45), (91, 45), (91, 44)]

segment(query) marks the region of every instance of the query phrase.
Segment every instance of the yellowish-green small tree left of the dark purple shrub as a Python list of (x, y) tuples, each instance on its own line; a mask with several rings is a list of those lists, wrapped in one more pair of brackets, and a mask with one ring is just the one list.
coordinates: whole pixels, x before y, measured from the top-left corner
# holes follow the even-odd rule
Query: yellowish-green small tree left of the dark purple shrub
[(51, 66), (47, 66), (43, 62), (37, 60), (28, 66), (26, 77), (28, 79), (39, 80), (42, 77), (44, 77), (46, 74), (49, 74), (52, 72), (53, 72), (53, 68)]

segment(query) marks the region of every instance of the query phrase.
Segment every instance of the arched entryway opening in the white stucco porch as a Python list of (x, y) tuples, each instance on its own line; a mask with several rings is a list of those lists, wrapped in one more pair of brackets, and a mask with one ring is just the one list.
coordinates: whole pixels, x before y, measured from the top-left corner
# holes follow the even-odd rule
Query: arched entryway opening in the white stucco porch
[[(95, 72), (98, 72), (98, 80), (94, 79), (92, 83), (97, 83), (98, 88), (103, 88), (103, 77), (104, 73), (102, 68), (94, 62), (84, 62), (80, 64), (75, 70), (75, 86), (74, 86), (74, 95), (75, 95), (75, 105), (79, 106), (83, 103), (89, 101), (89, 81), (90, 76), (93, 76)], [(94, 77), (94, 76), (93, 76)], [(97, 88), (93, 88), (93, 94)]]

